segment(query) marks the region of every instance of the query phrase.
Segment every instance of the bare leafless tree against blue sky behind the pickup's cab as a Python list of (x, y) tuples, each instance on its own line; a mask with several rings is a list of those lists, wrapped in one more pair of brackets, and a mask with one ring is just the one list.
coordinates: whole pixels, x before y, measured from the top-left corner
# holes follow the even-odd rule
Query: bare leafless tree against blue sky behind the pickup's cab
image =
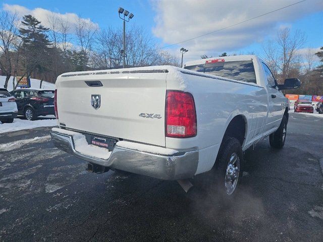
[(289, 72), (297, 62), (297, 50), (305, 43), (303, 32), (297, 30), (293, 35), (289, 28), (279, 30), (275, 40), (267, 41), (263, 46), (265, 59), (274, 74), (280, 73), (281, 79), (289, 77)]

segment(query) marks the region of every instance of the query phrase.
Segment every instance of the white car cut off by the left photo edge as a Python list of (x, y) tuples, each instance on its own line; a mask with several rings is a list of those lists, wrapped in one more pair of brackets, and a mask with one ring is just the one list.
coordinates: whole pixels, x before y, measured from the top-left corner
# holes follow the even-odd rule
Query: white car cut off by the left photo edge
[(0, 88), (0, 121), (2, 123), (12, 123), (17, 114), (16, 99), (6, 88)]

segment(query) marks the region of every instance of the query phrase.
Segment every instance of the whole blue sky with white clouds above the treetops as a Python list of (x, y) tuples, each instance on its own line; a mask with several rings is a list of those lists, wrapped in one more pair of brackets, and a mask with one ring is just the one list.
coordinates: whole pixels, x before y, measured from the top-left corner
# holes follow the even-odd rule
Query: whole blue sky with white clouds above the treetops
[[(321, 0), (200, 0), (200, 1), (149, 1), (149, 0), (0, 0), (4, 11), (17, 12), (23, 16), (31, 14), (45, 26), (51, 12), (69, 19), (72, 24), (77, 16), (87, 21), (93, 28), (122, 28), (118, 8), (123, 7), (134, 14), (127, 23), (143, 27), (159, 47), (180, 57), (179, 49), (189, 51), (186, 61), (199, 59), (200, 55), (218, 56), (229, 54), (255, 53), (263, 56), (263, 45), (274, 39), (277, 31), (289, 27), (292, 34), (304, 32), (306, 42), (300, 52), (310, 48), (316, 52), (323, 46), (323, 1)], [(236, 26), (207, 34), (250, 18), (284, 8)], [(180, 44), (177, 42), (195, 38)], [(171, 46), (169, 46), (171, 45)]]

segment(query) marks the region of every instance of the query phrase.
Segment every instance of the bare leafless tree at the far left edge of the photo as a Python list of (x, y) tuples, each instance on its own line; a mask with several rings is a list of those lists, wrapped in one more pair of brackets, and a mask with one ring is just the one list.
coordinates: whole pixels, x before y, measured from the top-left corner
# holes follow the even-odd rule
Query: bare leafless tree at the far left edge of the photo
[[(18, 36), (18, 16), (17, 14), (9, 14), (8, 12), (1, 12), (0, 15), (0, 68), (6, 74), (6, 81), (4, 87), (8, 87), (9, 79), (12, 75), (13, 65), (18, 58), (14, 52), (18, 50), (21, 39)], [(18, 60), (17, 60), (18, 63)], [(14, 68), (17, 69), (15, 65)]]

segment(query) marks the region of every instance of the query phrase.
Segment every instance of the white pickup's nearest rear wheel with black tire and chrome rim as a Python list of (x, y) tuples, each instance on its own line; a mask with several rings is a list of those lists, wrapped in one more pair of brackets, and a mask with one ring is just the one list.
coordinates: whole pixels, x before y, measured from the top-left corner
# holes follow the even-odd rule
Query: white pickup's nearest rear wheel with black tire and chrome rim
[(213, 179), (208, 189), (215, 190), (223, 199), (231, 199), (242, 177), (243, 162), (240, 142), (236, 138), (227, 138), (221, 144), (216, 164), (211, 170)]

